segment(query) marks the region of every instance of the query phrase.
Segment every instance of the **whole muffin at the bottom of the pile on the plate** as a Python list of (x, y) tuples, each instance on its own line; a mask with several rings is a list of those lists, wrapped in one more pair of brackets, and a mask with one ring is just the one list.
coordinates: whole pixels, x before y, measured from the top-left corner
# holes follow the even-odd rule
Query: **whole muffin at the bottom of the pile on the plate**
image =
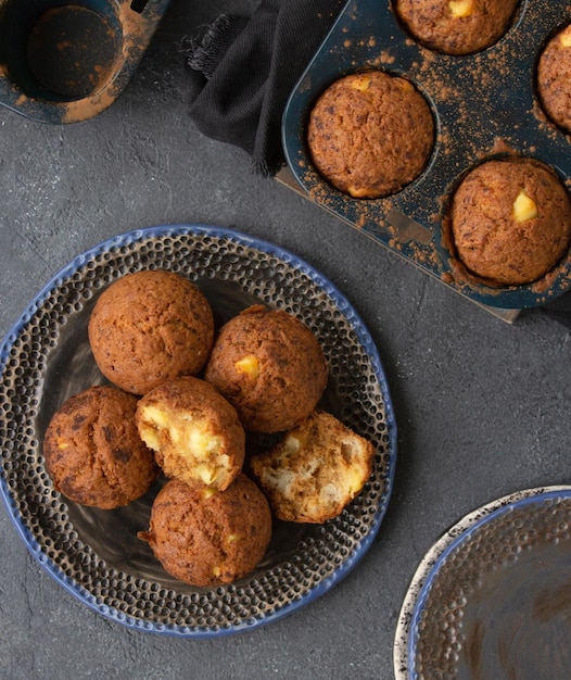
[(191, 585), (231, 583), (250, 574), (271, 538), (271, 513), (257, 486), (240, 475), (226, 491), (168, 481), (156, 495), (149, 531), (139, 533), (164, 569)]

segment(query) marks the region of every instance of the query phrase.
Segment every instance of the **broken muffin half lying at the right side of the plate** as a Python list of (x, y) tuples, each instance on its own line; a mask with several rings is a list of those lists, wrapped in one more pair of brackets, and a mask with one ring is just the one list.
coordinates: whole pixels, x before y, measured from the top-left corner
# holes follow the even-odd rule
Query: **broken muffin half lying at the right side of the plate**
[(371, 442), (331, 414), (316, 411), (254, 456), (251, 466), (276, 517), (321, 524), (360, 493), (373, 455)]

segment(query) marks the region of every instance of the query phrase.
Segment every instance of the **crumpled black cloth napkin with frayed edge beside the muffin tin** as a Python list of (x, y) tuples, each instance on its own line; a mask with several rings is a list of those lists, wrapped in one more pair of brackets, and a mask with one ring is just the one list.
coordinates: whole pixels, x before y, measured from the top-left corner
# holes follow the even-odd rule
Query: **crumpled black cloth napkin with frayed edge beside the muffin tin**
[(252, 156), (254, 172), (283, 164), (281, 116), (345, 0), (262, 0), (252, 16), (223, 14), (182, 45), (198, 95), (190, 117), (206, 137)]

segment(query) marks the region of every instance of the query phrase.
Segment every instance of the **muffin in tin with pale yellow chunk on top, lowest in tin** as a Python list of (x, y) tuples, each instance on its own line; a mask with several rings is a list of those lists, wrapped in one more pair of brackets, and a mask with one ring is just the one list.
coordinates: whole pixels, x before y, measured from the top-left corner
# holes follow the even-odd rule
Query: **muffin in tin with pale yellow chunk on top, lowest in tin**
[(469, 272), (492, 284), (522, 285), (547, 274), (568, 250), (571, 206), (548, 166), (506, 158), (468, 173), (454, 193), (449, 223)]

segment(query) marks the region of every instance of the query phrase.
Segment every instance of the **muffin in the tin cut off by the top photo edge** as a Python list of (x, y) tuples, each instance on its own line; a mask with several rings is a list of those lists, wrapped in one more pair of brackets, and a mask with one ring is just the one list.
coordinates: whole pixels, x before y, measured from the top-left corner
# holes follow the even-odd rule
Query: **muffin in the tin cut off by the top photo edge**
[(518, 0), (395, 0), (398, 18), (424, 47), (445, 54), (470, 54), (499, 40)]

